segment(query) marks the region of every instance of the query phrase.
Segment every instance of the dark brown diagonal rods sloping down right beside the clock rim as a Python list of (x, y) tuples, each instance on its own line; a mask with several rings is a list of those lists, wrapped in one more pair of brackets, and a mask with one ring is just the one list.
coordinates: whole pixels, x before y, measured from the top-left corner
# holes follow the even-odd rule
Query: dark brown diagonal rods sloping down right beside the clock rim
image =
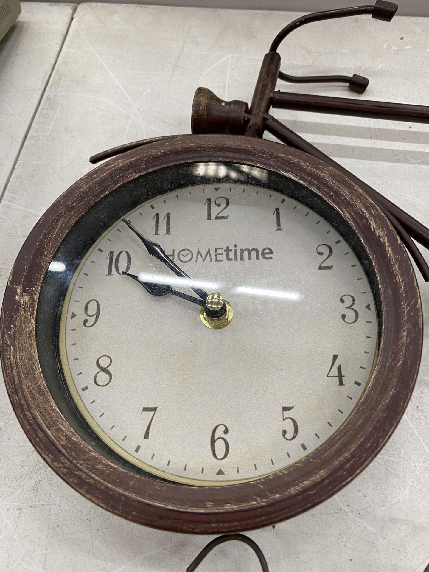
[(294, 133), (291, 129), (287, 128), (269, 114), (265, 115), (265, 129), (268, 133), (271, 133), (286, 145), (295, 149), (300, 149), (304, 153), (308, 153), (309, 155), (332, 165), (340, 173), (343, 173), (361, 189), (366, 191), (372, 200), (382, 208), (383, 212), (390, 220), (390, 223), (395, 228), (396, 232), (398, 232), (400, 239), (403, 241), (408, 252), (410, 252), (410, 255), (412, 256), (412, 259), (415, 261), (416, 266), (422, 273), (424, 281), (429, 281), (429, 267), (426, 260), (424, 260), (422, 253), (410, 238), (411, 235), (425, 248), (429, 248), (429, 229), (427, 229), (422, 223), (419, 223), (419, 221), (415, 220), (411, 215), (408, 215), (404, 210), (400, 209), (399, 206), (396, 206), (393, 202), (388, 200), (388, 198), (378, 193), (366, 182), (362, 181), (359, 177), (356, 177), (356, 175), (349, 172), (339, 163), (331, 159), (331, 157), (325, 155), (315, 146), (311, 145), (311, 143), (305, 141), (305, 139)]

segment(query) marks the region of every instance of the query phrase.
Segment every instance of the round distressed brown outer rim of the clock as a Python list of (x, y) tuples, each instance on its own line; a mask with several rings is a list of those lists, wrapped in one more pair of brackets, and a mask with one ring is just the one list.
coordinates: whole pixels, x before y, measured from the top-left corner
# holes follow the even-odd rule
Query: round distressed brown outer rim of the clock
[[(206, 161), (273, 170), (301, 182), (333, 205), (370, 257), (383, 316), (379, 351), (367, 389), (339, 429), (315, 451), (283, 470), (221, 487), (161, 483), (117, 466), (90, 447), (51, 397), (35, 344), (43, 277), (78, 218), (133, 178), (174, 164)], [(164, 530), (215, 534), (251, 530), (296, 516), (335, 494), (374, 459), (411, 398), (422, 353), (422, 320), (418, 284), (403, 244), (378, 206), (343, 174), (277, 142), (225, 135), (174, 136), (98, 166), (47, 209), (23, 244), (6, 287), (0, 323), (1, 359), (19, 423), (42, 458), (70, 486), (134, 522)]]

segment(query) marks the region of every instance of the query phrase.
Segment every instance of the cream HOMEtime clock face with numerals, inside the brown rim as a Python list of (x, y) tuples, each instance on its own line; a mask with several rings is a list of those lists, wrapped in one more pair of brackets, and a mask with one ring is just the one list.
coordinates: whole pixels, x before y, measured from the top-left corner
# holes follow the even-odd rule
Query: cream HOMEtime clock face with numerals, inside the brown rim
[[(302, 191), (248, 166), (181, 166), (106, 197), (65, 241), (46, 284), (65, 292), (57, 359), (99, 447), (219, 486), (296, 463), (347, 419), (378, 350), (373, 286), (344, 223)], [(225, 327), (201, 320), (201, 290), (231, 305)]]

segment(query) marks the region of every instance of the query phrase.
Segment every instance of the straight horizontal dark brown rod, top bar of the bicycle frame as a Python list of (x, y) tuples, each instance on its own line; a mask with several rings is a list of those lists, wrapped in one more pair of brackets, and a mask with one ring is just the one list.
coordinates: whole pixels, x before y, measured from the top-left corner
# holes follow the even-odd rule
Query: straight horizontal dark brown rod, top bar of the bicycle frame
[(305, 93), (275, 92), (272, 106), (315, 113), (331, 113), (372, 119), (429, 123), (426, 105), (395, 104), (387, 101), (355, 100), (344, 97), (313, 96)]

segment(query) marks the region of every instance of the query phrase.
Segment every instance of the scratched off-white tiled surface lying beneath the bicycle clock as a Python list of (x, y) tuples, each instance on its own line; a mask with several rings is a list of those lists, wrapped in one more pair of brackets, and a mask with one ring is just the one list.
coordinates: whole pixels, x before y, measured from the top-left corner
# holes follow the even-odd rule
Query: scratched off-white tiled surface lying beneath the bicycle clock
[[(13, 168), (72, 11), (65, 5), (23, 5), (22, 18), (28, 27), (14, 33), (23, 34), (21, 44), (29, 59), (18, 54), (0, 71), (0, 101), (13, 108), (12, 116), (15, 112), (20, 117), (21, 129), (13, 149), (0, 141), (3, 157), (6, 150), (0, 183)], [(223, 98), (249, 101), (263, 54), (279, 29), (295, 16), (141, 5), (78, 6), (0, 203), (1, 291), (31, 227), (63, 190), (92, 168), (91, 154), (143, 137), (188, 133), (192, 97), (200, 85)], [(39, 23), (42, 19), (49, 22), (46, 30)], [(301, 74), (360, 73), (370, 77), (364, 98), (429, 105), (429, 19), (398, 17), (387, 24), (351, 18), (336, 26), (319, 23), (292, 34), (281, 50), (285, 69)], [(39, 54), (34, 60), (30, 59), (33, 48)], [(1, 50), (5, 47), (0, 44)], [(18, 56), (24, 63), (14, 63)], [(38, 69), (37, 80), (35, 76), (27, 80), (28, 67)], [(13, 101), (20, 102), (17, 108), (6, 99), (12, 84)], [(26, 91), (29, 85), (31, 96)], [(351, 95), (340, 86), (284, 89)], [(428, 126), (275, 114), (429, 224)], [(15, 133), (9, 127), (10, 117), (8, 137)], [(427, 321), (428, 287), (421, 281), (420, 287)], [(414, 396), (382, 454), (324, 505), (275, 529), (249, 533), (267, 555), (270, 570), (423, 572), (429, 563), (428, 379), (425, 338)], [(134, 525), (74, 492), (47, 468), (23, 435), (3, 384), (0, 428), (1, 570), (185, 570), (208, 541)], [(224, 545), (200, 569), (241, 572), (259, 567), (244, 546)]]

